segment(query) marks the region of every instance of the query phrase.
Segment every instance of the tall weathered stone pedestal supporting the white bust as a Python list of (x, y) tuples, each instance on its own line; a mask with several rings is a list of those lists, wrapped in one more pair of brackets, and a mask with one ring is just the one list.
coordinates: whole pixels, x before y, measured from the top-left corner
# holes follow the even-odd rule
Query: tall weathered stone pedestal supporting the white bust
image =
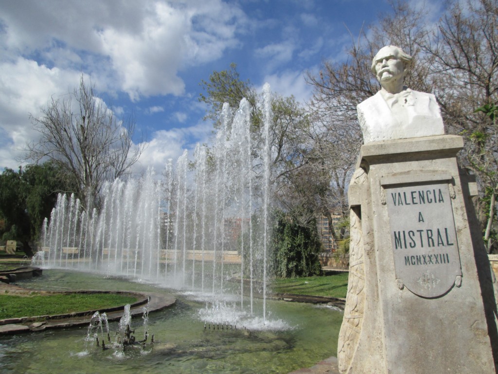
[(364, 145), (349, 189), (342, 373), (496, 373), (489, 261), (461, 137)]

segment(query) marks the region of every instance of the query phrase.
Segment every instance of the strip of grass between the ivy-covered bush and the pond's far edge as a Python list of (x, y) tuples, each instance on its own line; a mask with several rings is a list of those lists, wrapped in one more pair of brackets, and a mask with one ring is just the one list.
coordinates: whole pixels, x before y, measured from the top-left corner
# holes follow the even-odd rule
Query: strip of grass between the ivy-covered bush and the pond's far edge
[(275, 279), (271, 291), (295, 295), (346, 297), (348, 273), (322, 277)]

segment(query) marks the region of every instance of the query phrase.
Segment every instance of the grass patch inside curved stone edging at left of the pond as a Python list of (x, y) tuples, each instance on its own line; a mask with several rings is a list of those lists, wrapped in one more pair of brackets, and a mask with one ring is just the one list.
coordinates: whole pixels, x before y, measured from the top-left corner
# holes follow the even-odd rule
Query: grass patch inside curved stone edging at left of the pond
[(102, 310), (135, 301), (115, 294), (0, 295), (0, 319)]

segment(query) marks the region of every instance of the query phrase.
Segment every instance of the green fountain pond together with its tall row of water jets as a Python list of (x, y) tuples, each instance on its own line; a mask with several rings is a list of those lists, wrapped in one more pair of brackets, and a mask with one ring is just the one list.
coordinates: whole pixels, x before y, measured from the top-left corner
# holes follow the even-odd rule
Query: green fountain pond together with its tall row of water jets
[[(44, 276), (23, 286), (174, 292), (175, 306), (149, 316), (154, 344), (102, 350), (76, 328), (1, 338), (2, 373), (288, 373), (335, 354), (340, 312), (265, 297), (270, 104), (265, 85), (258, 129), (246, 99), (224, 105), (214, 144), (198, 145), (192, 160), (187, 151), (169, 160), (160, 180), (148, 170), (106, 183), (99, 210), (60, 194), (44, 221), (33, 257)], [(136, 337), (140, 328), (131, 321)]]

